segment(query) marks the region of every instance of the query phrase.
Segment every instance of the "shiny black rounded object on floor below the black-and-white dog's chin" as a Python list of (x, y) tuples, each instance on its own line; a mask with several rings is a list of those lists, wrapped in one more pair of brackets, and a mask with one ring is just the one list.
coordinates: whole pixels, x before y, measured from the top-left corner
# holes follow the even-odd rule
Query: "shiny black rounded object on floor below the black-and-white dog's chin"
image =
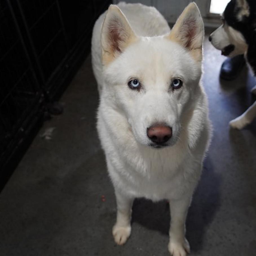
[(245, 64), (244, 55), (227, 58), (221, 65), (220, 78), (223, 80), (234, 80), (242, 71)]

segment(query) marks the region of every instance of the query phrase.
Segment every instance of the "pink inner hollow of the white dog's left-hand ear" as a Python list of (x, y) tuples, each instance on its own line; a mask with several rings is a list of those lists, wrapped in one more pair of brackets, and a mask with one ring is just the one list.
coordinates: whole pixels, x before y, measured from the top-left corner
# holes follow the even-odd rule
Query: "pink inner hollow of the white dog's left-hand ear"
[(109, 40), (111, 43), (112, 51), (122, 52), (120, 49), (120, 44), (124, 42), (124, 29), (122, 24), (118, 19), (111, 20), (109, 27)]

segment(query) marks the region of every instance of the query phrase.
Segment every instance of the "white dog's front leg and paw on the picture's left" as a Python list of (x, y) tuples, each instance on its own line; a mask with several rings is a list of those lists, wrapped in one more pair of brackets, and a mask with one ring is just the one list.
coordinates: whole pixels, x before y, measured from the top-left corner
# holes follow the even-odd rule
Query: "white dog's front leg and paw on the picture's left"
[(124, 244), (131, 235), (131, 209), (133, 199), (122, 192), (115, 189), (116, 194), (116, 224), (113, 227), (112, 233), (117, 244)]

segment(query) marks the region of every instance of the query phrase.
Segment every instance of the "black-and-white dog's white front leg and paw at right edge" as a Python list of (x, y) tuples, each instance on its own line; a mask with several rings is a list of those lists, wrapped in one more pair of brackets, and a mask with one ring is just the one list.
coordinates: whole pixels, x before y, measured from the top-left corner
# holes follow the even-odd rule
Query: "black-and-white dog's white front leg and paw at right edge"
[(250, 124), (256, 117), (256, 101), (249, 107), (244, 114), (229, 122), (232, 128), (243, 129), (246, 125)]

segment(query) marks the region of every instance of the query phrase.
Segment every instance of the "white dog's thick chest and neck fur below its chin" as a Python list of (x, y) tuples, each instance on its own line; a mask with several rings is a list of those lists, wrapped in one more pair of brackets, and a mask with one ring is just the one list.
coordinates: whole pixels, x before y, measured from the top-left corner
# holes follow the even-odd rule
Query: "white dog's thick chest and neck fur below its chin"
[[(104, 104), (101, 108), (98, 130), (115, 187), (125, 190), (131, 197), (145, 197), (153, 201), (192, 193), (200, 178), (204, 151), (200, 146), (189, 149), (189, 134), (185, 129), (175, 146), (151, 149), (136, 142), (129, 124), (121, 115), (115, 113), (110, 122), (108, 117), (112, 114), (107, 113)], [(202, 145), (207, 136), (205, 132)]]

